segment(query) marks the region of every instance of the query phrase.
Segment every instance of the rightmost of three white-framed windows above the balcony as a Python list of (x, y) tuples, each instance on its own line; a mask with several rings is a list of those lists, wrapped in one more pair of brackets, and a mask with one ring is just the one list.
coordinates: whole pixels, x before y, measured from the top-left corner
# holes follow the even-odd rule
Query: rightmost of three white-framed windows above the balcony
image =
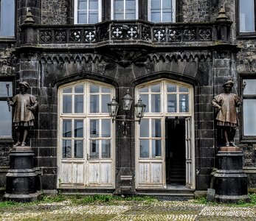
[(158, 22), (175, 21), (175, 0), (149, 0), (148, 20)]

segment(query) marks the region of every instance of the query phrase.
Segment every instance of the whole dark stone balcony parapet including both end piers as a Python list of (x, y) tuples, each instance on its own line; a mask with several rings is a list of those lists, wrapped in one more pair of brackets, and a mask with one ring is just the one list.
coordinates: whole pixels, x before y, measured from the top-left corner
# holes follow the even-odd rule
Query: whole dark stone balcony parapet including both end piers
[[(104, 46), (181, 47), (229, 43), (230, 23), (153, 24), (148, 21), (105, 21), (95, 25), (23, 24), (21, 46), (100, 48)], [(224, 33), (226, 36), (222, 35)], [(225, 37), (225, 38), (223, 38)]]

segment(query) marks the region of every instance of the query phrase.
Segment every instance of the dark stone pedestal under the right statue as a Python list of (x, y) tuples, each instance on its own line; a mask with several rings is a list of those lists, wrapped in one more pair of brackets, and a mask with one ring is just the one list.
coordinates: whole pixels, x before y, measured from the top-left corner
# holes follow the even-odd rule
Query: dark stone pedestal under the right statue
[(219, 169), (214, 177), (215, 201), (238, 203), (249, 201), (247, 176), (243, 172), (243, 152), (239, 147), (221, 147), (217, 154)]

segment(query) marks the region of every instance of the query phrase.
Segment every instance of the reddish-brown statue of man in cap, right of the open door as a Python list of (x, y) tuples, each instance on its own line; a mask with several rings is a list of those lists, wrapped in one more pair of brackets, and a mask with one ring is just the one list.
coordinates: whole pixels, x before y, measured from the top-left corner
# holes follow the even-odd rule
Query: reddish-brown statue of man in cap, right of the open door
[(233, 85), (231, 80), (224, 83), (224, 93), (218, 94), (212, 99), (212, 106), (218, 108), (217, 125), (224, 133), (226, 147), (236, 147), (234, 143), (235, 127), (238, 125), (236, 107), (243, 102), (241, 97), (231, 92)]

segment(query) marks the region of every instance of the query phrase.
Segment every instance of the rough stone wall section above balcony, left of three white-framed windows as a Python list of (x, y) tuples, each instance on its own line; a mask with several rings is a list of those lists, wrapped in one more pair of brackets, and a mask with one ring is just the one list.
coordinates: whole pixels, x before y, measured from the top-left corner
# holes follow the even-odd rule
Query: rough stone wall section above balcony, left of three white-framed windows
[(67, 24), (68, 1), (42, 0), (42, 24)]

